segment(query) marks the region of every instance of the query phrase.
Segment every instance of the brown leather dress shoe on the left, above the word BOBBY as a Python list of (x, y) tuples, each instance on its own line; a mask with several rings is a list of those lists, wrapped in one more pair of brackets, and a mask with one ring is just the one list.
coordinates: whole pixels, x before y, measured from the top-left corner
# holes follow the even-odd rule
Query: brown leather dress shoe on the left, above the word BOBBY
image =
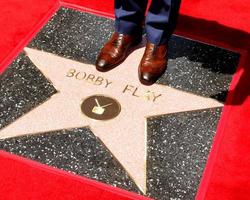
[(121, 64), (141, 42), (142, 34), (124, 35), (113, 33), (109, 41), (101, 49), (97, 60), (98, 71), (108, 71)]

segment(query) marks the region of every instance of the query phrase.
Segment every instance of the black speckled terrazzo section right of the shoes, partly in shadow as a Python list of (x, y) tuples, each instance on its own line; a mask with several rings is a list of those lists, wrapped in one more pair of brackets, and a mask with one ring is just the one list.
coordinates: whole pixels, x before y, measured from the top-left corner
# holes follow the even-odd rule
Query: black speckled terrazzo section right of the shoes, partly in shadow
[(168, 70), (158, 83), (224, 102), (238, 63), (237, 53), (172, 37)]

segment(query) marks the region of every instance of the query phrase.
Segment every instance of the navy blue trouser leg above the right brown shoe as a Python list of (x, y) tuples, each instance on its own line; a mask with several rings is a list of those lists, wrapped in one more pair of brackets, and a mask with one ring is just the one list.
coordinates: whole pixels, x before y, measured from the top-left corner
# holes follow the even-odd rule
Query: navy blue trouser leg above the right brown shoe
[(174, 32), (181, 0), (153, 0), (146, 16), (148, 41), (166, 44)]

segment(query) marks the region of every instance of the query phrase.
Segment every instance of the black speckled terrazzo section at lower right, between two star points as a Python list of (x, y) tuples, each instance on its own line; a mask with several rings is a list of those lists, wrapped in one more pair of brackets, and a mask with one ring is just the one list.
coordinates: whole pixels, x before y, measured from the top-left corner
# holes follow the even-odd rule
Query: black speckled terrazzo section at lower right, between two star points
[(148, 119), (148, 195), (195, 198), (220, 108)]

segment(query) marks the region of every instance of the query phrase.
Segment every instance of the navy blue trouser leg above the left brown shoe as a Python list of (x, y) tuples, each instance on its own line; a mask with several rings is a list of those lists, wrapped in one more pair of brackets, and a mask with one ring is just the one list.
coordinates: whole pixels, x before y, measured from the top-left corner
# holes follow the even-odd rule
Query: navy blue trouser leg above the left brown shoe
[(123, 34), (142, 31), (148, 0), (115, 0), (115, 30)]

